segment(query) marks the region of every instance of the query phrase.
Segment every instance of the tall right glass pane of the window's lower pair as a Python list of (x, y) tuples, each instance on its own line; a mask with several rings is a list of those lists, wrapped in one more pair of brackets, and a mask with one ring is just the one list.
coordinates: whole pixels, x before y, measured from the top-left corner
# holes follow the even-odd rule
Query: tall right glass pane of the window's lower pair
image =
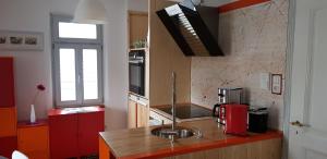
[(98, 54), (96, 49), (83, 49), (84, 99), (98, 99)]

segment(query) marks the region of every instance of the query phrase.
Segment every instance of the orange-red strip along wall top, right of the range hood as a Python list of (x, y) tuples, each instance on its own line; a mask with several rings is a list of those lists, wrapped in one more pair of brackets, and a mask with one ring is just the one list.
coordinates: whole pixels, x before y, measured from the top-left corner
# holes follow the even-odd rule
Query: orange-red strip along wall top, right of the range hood
[(225, 12), (233, 11), (237, 9), (246, 8), (250, 5), (268, 2), (268, 1), (270, 1), (270, 0), (239, 0), (235, 2), (231, 2), (228, 4), (221, 5), (218, 8), (218, 10), (219, 10), (219, 13), (225, 13)]

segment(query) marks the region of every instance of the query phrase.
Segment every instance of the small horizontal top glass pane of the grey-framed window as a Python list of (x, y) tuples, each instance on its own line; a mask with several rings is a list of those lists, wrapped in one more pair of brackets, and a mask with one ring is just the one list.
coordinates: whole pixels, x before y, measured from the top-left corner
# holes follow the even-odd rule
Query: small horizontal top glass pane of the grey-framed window
[(97, 39), (97, 25), (59, 22), (59, 37)]

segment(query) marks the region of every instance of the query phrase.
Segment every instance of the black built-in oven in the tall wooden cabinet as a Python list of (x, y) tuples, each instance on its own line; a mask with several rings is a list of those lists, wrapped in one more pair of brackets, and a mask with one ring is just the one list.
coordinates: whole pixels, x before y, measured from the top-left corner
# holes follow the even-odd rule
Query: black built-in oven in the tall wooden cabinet
[(145, 50), (129, 52), (130, 91), (145, 96)]

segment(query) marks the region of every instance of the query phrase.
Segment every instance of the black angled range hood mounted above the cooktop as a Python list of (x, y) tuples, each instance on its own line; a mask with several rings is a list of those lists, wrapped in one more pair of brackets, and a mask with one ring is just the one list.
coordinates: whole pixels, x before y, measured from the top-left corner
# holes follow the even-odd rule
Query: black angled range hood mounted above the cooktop
[(157, 11), (157, 15), (185, 56), (223, 56), (218, 46), (217, 8), (195, 5), (191, 0)]

